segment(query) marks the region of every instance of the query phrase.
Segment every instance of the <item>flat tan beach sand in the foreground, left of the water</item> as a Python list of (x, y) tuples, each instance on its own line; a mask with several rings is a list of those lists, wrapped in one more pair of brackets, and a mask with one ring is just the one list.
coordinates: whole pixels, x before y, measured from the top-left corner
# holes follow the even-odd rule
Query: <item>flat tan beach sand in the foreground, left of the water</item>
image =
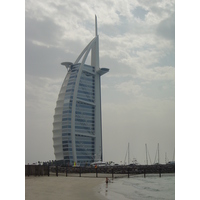
[(105, 178), (25, 177), (26, 200), (106, 200), (99, 193)]

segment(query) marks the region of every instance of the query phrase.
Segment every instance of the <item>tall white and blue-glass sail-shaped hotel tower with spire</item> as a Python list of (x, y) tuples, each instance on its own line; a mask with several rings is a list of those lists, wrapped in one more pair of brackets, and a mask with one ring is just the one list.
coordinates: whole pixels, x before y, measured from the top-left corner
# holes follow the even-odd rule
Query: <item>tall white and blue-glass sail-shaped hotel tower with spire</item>
[[(86, 59), (91, 53), (91, 64)], [(102, 160), (101, 76), (99, 36), (95, 16), (95, 37), (74, 63), (67, 68), (53, 122), (53, 147), (56, 161), (81, 166)]]

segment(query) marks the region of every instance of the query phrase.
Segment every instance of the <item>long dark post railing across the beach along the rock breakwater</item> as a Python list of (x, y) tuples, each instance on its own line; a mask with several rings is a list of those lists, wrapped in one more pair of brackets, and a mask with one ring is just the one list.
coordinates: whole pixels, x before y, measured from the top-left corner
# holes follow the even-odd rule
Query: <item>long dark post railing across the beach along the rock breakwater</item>
[(135, 166), (105, 166), (105, 167), (61, 167), (49, 165), (26, 165), (26, 176), (74, 176), (74, 177), (130, 177), (141, 174), (175, 173), (174, 165), (135, 165)]

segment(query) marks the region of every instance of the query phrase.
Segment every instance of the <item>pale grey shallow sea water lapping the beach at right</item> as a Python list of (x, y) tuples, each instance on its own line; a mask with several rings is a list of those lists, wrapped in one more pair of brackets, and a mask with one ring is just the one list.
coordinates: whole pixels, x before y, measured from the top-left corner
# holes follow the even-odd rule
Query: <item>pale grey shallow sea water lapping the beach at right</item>
[(109, 200), (174, 200), (174, 174), (131, 176), (130, 178), (110, 179), (101, 185), (100, 193)]

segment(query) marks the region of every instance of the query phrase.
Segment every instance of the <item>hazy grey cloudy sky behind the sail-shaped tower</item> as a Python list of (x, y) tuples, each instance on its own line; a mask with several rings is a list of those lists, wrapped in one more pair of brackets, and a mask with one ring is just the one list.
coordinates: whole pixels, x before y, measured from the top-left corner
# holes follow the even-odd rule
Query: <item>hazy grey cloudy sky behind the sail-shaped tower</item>
[[(148, 2), (148, 3), (147, 3)], [(175, 148), (174, 0), (25, 1), (25, 162), (54, 160), (53, 115), (67, 70), (95, 35), (102, 76), (104, 161), (160, 162)], [(89, 61), (88, 61), (89, 63)], [(127, 161), (126, 161), (127, 162)], [(150, 160), (149, 160), (150, 163)]]

